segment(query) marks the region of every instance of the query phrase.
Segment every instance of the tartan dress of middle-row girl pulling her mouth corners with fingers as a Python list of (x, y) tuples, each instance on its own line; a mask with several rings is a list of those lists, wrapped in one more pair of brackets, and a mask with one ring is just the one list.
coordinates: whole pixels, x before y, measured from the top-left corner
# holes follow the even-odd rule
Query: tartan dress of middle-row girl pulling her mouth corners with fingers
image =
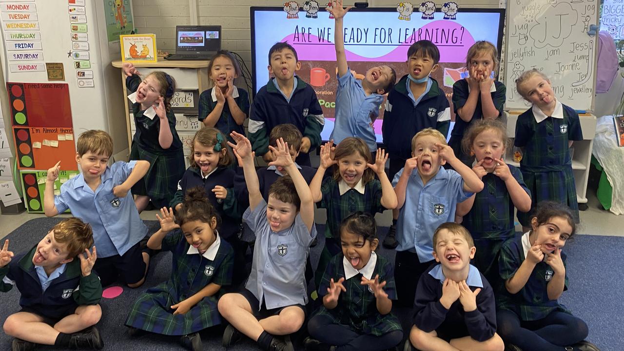
[[(530, 196), (520, 169), (509, 165), (509, 171)], [(484, 175), (481, 180), (484, 188), (475, 195), (474, 205), (464, 216), (462, 225), (472, 234), (477, 248), (472, 264), (496, 291), (500, 287), (498, 284), (500, 247), (505, 240), (515, 235), (515, 206), (504, 180), (492, 173)]]

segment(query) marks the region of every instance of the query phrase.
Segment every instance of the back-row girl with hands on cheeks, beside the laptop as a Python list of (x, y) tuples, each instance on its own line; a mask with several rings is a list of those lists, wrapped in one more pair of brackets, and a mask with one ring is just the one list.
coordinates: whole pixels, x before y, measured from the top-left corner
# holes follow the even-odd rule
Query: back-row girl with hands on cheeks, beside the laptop
[[(213, 87), (199, 97), (199, 120), (206, 127), (215, 127), (227, 137), (231, 132), (245, 135), (243, 123), (249, 114), (249, 96), (234, 85), (242, 74), (236, 57), (230, 51), (220, 50), (208, 63), (208, 78)], [(234, 160), (236, 163), (236, 160)]]

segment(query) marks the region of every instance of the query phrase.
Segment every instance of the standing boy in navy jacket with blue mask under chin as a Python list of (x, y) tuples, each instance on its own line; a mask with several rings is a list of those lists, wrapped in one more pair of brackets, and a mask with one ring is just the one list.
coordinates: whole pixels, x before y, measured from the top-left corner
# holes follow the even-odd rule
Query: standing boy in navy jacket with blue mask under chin
[[(381, 132), (389, 154), (388, 177), (392, 179), (411, 158), (411, 140), (417, 132), (434, 128), (446, 138), (451, 125), (449, 101), (437, 81), (431, 77), (439, 67), (440, 51), (428, 40), (414, 42), (407, 49), (406, 74), (388, 94)], [(392, 225), (383, 245), (397, 247), (396, 221), (399, 211), (392, 211)]]

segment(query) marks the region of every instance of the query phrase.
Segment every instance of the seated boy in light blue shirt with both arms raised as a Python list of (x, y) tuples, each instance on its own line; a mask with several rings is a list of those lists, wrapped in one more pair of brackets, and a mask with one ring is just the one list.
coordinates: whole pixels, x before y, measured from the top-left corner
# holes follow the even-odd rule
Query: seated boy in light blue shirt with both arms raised
[[(251, 274), (245, 289), (225, 294), (219, 312), (230, 325), (223, 332), (228, 347), (245, 334), (266, 351), (293, 350), (290, 334), (305, 320), (308, 291), (305, 279), (310, 243), (316, 237), (312, 192), (290, 156), (283, 139), (269, 146), (274, 161), (269, 166), (285, 169), (288, 175), (277, 179), (262, 197), (253, 165), (251, 142), (242, 134), (230, 134), (228, 142), (243, 166), (249, 192), (249, 208), (243, 220), (256, 234)], [(277, 335), (285, 335), (285, 340)]]

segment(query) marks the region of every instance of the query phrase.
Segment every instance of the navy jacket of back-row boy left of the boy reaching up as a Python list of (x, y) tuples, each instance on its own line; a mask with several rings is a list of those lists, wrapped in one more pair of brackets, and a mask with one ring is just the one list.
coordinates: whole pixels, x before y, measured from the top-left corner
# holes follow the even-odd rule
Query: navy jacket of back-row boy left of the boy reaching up
[[(269, 151), (269, 134), (278, 124), (294, 124), (301, 134), (310, 138), (310, 151), (321, 145), (321, 131), (325, 124), (323, 110), (316, 91), (297, 77), (297, 85), (290, 101), (281, 94), (273, 79), (253, 99), (249, 118), (249, 140), (256, 156)], [(301, 152), (295, 160), (301, 166), (310, 166), (310, 155)]]

